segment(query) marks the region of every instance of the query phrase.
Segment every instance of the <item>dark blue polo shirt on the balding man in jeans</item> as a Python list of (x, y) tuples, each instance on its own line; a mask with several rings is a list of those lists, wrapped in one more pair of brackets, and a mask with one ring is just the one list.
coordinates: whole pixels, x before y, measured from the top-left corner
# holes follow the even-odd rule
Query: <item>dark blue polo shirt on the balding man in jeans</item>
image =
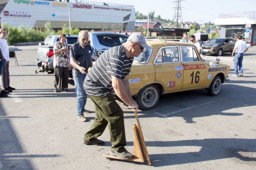
[[(88, 43), (85, 48), (80, 42), (74, 43), (71, 46), (70, 57), (75, 59), (75, 62), (80, 66), (88, 69), (92, 64), (92, 47)], [(73, 69), (76, 69), (73, 67)], [(76, 69), (78, 70), (78, 69)]]

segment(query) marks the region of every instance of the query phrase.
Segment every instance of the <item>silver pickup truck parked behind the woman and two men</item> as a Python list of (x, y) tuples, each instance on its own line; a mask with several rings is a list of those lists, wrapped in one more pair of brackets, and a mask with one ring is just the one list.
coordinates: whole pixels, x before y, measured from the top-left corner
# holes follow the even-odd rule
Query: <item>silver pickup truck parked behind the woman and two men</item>
[[(98, 57), (111, 47), (121, 45), (127, 41), (128, 36), (125, 34), (106, 33), (106, 32), (89, 32), (89, 43), (92, 46), (92, 60), (96, 61)], [(48, 36), (43, 43), (39, 43), (37, 52), (38, 67), (48, 74), (53, 74), (53, 44), (59, 41), (59, 36)], [(72, 44), (78, 41), (78, 36), (67, 36), (66, 43), (70, 48)], [(42, 72), (41, 71), (41, 72)], [(72, 68), (69, 69), (69, 76)], [(39, 71), (40, 72), (40, 71)]]

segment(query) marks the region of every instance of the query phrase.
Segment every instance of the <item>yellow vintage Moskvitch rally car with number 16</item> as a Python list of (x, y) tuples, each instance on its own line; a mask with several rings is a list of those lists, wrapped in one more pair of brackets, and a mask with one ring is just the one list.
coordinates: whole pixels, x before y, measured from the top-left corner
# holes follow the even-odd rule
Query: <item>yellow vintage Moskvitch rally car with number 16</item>
[(154, 108), (160, 94), (205, 88), (217, 96), (221, 84), (229, 80), (229, 65), (205, 62), (191, 43), (147, 40), (147, 44), (151, 49), (134, 58), (129, 75), (140, 110)]

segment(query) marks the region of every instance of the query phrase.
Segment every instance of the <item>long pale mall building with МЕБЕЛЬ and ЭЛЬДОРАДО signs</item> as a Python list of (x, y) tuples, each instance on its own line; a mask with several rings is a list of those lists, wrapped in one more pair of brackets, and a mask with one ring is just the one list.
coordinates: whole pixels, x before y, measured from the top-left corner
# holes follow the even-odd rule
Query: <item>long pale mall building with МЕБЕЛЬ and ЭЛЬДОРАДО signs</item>
[(133, 5), (89, 0), (0, 0), (0, 22), (16, 27), (44, 28), (50, 21), (53, 29), (59, 30), (65, 24), (69, 27), (69, 13), (72, 28), (134, 31)]

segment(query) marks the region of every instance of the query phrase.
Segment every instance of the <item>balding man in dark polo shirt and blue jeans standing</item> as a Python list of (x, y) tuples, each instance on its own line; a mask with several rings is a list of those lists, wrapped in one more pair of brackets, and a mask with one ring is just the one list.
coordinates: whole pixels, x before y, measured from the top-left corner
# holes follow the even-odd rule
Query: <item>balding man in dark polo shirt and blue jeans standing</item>
[(77, 119), (86, 122), (83, 113), (91, 113), (85, 109), (87, 95), (83, 88), (83, 83), (89, 67), (92, 67), (92, 47), (88, 43), (89, 34), (82, 30), (78, 34), (79, 42), (71, 46), (70, 64), (73, 66), (73, 79), (75, 82), (75, 91), (77, 93)]

